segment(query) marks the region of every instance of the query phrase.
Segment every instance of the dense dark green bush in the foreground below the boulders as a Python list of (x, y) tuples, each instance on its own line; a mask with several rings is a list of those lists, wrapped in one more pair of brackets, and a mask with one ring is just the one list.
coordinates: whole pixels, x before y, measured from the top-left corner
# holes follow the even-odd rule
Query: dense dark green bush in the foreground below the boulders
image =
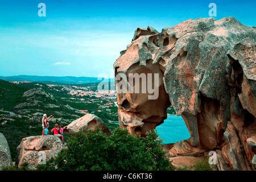
[[(137, 138), (127, 130), (115, 129), (107, 137), (100, 129), (76, 133), (55, 159), (38, 170), (165, 170), (170, 162), (156, 133)], [(55, 168), (57, 166), (57, 169)]]

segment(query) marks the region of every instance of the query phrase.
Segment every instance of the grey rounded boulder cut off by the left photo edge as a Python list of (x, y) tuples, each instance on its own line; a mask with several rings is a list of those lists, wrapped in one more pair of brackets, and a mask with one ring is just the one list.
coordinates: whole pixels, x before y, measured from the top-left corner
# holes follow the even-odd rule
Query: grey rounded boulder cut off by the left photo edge
[(3, 166), (11, 164), (11, 153), (5, 136), (0, 133), (0, 171)]

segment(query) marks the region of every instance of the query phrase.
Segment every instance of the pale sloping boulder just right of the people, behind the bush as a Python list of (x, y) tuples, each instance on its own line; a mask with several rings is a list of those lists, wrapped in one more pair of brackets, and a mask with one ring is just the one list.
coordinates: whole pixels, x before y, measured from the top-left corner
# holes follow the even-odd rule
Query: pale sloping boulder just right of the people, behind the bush
[(111, 131), (106, 127), (105, 123), (94, 114), (85, 114), (83, 117), (76, 119), (68, 126), (64, 127), (64, 133), (74, 135), (78, 131), (84, 133), (87, 130), (95, 130), (96, 125), (101, 129), (106, 135), (111, 135)]

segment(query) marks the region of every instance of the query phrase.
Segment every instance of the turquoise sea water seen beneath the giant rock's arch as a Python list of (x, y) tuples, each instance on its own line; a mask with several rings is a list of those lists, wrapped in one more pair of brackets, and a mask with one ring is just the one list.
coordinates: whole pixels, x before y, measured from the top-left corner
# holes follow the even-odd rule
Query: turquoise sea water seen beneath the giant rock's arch
[(177, 115), (167, 115), (167, 119), (156, 126), (156, 130), (159, 138), (163, 139), (163, 143), (175, 143), (190, 138), (183, 118)]

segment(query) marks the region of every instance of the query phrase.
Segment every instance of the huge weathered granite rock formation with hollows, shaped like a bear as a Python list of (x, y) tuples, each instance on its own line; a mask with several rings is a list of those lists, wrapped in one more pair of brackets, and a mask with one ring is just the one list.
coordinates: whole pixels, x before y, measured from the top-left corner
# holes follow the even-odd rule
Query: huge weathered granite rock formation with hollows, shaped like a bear
[[(256, 29), (233, 17), (189, 19), (162, 32), (137, 28), (114, 63), (119, 126), (143, 136), (172, 105), (191, 134), (172, 157), (214, 150), (219, 169), (255, 169), (255, 62)], [(136, 84), (135, 73), (146, 83)]]

